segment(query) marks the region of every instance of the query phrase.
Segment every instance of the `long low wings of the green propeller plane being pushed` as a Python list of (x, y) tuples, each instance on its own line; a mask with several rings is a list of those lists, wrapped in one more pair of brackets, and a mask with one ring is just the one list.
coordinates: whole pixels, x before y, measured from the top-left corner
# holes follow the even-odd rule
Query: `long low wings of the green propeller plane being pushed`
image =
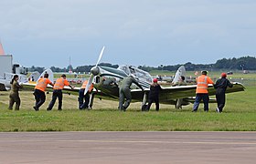
[[(33, 90), (36, 86), (36, 83), (29, 84), (24, 83), (23, 84), (24, 89)], [(177, 98), (184, 98), (184, 100), (188, 103), (193, 103), (195, 101), (196, 96), (196, 88), (197, 85), (191, 85), (191, 86), (177, 86), (177, 87), (162, 87), (162, 90), (159, 94), (159, 100), (160, 103), (163, 104), (176, 104)], [(233, 87), (228, 87), (226, 93), (233, 93), (233, 92), (239, 92), (243, 91), (245, 87), (243, 87), (240, 83), (233, 83)], [(52, 91), (52, 87), (48, 85), (48, 91)], [(79, 94), (80, 87), (75, 87), (74, 89), (71, 89), (70, 87), (64, 87), (62, 92), (64, 94), (72, 94), (72, 95), (78, 95)], [(149, 93), (150, 89), (146, 88), (144, 91), (141, 89), (131, 89), (131, 94), (133, 97), (133, 102), (139, 101), (142, 102), (144, 98), (144, 92)], [(93, 88), (93, 92), (96, 93), (96, 97), (104, 98), (104, 99), (112, 99), (112, 100), (118, 100), (118, 87), (101, 87), (98, 88), (96, 91), (95, 88)], [(216, 89), (212, 86), (208, 86), (208, 95), (213, 96), (215, 95)], [(210, 99), (210, 102), (216, 102), (215, 99)]]

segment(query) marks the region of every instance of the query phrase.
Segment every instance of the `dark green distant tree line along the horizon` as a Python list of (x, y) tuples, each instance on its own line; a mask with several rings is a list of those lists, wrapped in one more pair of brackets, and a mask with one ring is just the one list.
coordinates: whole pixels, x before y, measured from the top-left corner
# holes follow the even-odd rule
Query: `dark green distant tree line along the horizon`
[[(118, 65), (112, 65), (110, 63), (101, 63), (99, 66), (102, 67), (113, 67), (113, 68), (117, 68), (119, 67)], [(195, 71), (195, 70), (203, 70), (203, 69), (207, 69), (207, 70), (212, 70), (212, 69), (230, 69), (230, 70), (256, 70), (256, 58), (253, 56), (242, 56), (240, 58), (223, 58), (223, 59), (219, 59), (217, 60), (217, 62), (215, 64), (207, 64), (207, 65), (203, 65), (203, 64), (192, 64), (191, 62), (187, 62), (184, 65), (175, 65), (175, 66), (159, 66), (159, 67), (148, 67), (148, 66), (139, 66), (138, 68), (143, 69), (144, 71), (151, 71), (151, 70), (168, 70), (168, 71), (176, 71), (176, 69), (180, 66), (185, 66), (187, 71)], [(91, 71), (91, 67), (94, 66), (79, 66), (79, 67), (75, 67), (73, 68), (72, 66), (68, 66), (68, 67), (50, 67), (50, 69), (53, 72), (69, 72), (69, 69), (73, 72), (85, 72), (88, 73)], [(38, 72), (43, 72), (43, 70), (45, 69), (45, 67), (29, 67), (28, 71), (38, 71)]]

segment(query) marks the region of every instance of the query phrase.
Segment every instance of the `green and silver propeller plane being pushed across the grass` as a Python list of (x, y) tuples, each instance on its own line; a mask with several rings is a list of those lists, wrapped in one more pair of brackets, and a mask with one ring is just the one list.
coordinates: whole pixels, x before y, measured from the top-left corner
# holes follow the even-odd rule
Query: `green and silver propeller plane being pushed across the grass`
[[(105, 47), (103, 46), (95, 67), (91, 68), (91, 76), (89, 78), (88, 85), (85, 88), (84, 94), (88, 92), (91, 84), (93, 83), (95, 88), (91, 93), (90, 103), (93, 102), (94, 96), (118, 100), (118, 83), (121, 82), (123, 77), (128, 77), (133, 74), (137, 82), (142, 87), (144, 87), (144, 91), (140, 88), (137, 88), (135, 85), (131, 87), (133, 102), (142, 102), (142, 109), (144, 109), (147, 103), (147, 95), (150, 91), (150, 84), (152, 83), (153, 78), (148, 72), (133, 66), (121, 66), (118, 68), (99, 66), (104, 49)], [(186, 69), (184, 66), (179, 67), (176, 71), (176, 76), (174, 77), (173, 83), (177, 82), (180, 76), (186, 76)], [(240, 83), (235, 82), (233, 85), (233, 87), (229, 87), (227, 89), (226, 93), (239, 92), (244, 90), (243, 85)], [(177, 98), (183, 98), (182, 106), (186, 106), (195, 101), (196, 87), (197, 85), (162, 87), (163, 90), (160, 92), (159, 101), (163, 104), (176, 105)], [(75, 87), (73, 90), (71, 90), (69, 87), (64, 87), (63, 93), (68, 92), (72, 94), (75, 92), (75, 94), (78, 95), (79, 90), (80, 87)], [(208, 94), (209, 96), (215, 95), (215, 89), (212, 85), (208, 86)]]

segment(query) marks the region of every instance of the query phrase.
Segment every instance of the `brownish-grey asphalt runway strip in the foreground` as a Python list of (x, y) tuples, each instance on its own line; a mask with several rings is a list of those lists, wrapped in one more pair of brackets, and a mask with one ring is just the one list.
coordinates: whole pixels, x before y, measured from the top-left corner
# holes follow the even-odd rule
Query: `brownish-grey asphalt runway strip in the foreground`
[(255, 163), (256, 132), (0, 133), (0, 163)]

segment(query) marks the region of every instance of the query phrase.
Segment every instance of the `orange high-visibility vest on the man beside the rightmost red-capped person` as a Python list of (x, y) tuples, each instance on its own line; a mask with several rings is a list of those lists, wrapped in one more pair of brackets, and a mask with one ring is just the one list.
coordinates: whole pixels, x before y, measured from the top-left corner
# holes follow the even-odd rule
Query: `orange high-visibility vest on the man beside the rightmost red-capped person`
[(214, 84), (209, 77), (205, 75), (197, 77), (196, 93), (208, 93), (208, 84)]

